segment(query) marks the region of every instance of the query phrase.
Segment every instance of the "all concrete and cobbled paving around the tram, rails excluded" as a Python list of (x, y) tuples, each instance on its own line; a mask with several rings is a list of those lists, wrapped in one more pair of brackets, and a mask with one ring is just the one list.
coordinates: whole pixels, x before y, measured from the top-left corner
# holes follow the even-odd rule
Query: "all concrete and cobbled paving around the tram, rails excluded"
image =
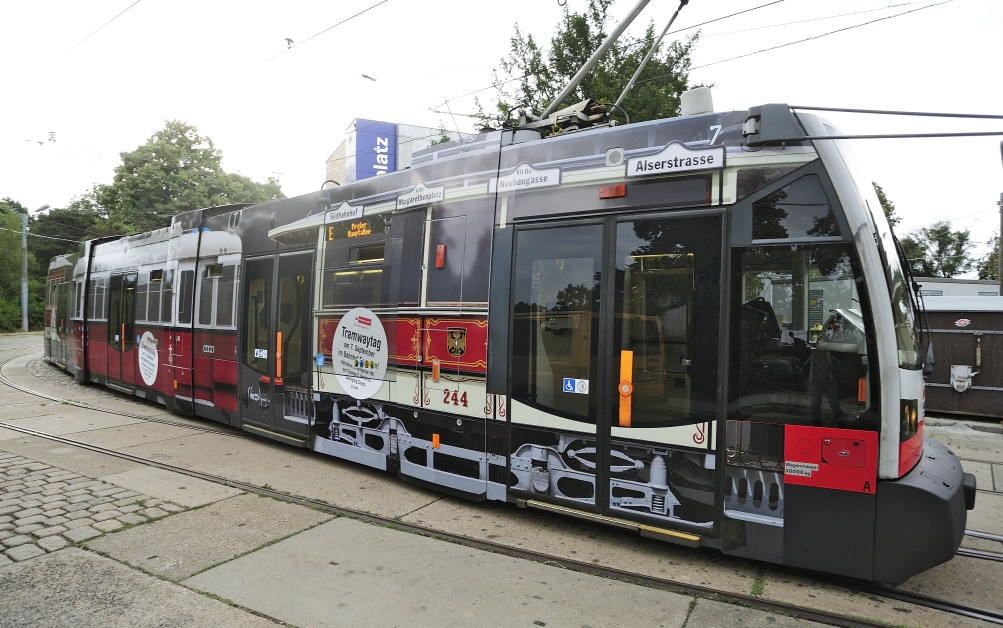
[[(0, 509), (8, 509), (0, 515), (0, 628), (813, 625), (333, 518), (25, 435), (12, 429), (18, 425), (558, 559), (761, 593), (892, 625), (980, 625), (712, 551), (658, 544), (508, 504), (471, 504), (270, 441), (192, 430), (185, 424), (226, 427), (79, 386), (39, 360), (40, 339), (34, 349), (24, 337), (16, 340), (16, 348), (5, 349), (8, 340), (0, 337), (0, 358), (23, 356), (3, 369), (18, 383), (134, 414), (170, 416), (179, 425), (53, 403), (0, 386)], [(937, 437), (953, 439), (959, 455), (977, 450), (972, 457), (991, 460), (976, 473), (981, 488), (995, 488), (1003, 455), (992, 456), (1003, 450), (1003, 433), (947, 421), (931, 425), (931, 432), (937, 430)], [(992, 463), (997, 459), (1000, 468)], [(1003, 534), (999, 497), (980, 494), (969, 527)], [(13, 537), (20, 538), (3, 545)], [(985, 544), (977, 549), (1003, 550), (995, 542), (970, 542)], [(904, 587), (998, 610), (1003, 591), (997, 583), (1003, 583), (1003, 563), (958, 558)]]

